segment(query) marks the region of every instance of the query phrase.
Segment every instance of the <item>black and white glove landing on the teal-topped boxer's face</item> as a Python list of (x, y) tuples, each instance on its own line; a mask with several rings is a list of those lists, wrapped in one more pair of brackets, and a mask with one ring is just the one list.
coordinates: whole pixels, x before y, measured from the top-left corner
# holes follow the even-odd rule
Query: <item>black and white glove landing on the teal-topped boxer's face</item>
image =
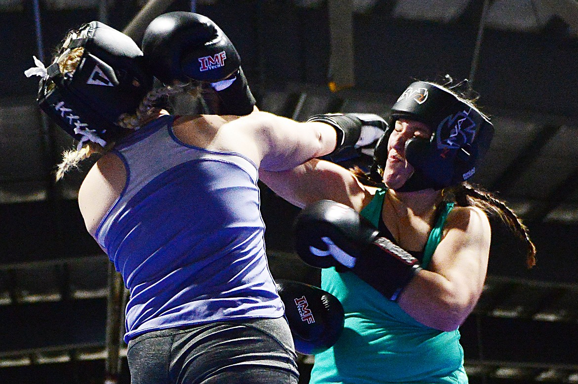
[[(333, 152), (321, 157), (334, 163), (357, 156), (352, 150), (371, 146), (387, 129), (387, 122), (376, 114), (313, 115), (307, 121), (318, 121), (334, 127), (337, 145)], [(370, 153), (370, 156), (373, 156), (373, 153)]]

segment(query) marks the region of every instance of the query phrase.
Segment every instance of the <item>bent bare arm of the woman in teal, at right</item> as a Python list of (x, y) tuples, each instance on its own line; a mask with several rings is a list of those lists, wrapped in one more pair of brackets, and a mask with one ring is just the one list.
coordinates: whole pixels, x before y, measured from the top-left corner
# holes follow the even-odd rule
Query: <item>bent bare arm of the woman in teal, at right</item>
[(480, 209), (454, 208), (429, 270), (421, 270), (410, 281), (399, 306), (429, 327), (457, 329), (480, 298), (490, 236), (490, 223)]

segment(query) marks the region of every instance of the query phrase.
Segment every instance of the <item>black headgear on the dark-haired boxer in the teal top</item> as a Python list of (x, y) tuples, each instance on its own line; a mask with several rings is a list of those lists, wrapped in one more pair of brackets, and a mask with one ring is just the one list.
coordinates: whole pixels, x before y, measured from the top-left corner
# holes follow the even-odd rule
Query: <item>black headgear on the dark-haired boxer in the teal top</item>
[(400, 118), (427, 123), (433, 132), (429, 139), (406, 141), (405, 157), (414, 173), (399, 191), (437, 190), (469, 179), (494, 135), (488, 118), (454, 93), (430, 82), (413, 82), (391, 108), (389, 128), (375, 147), (373, 177), (383, 177), (387, 142)]

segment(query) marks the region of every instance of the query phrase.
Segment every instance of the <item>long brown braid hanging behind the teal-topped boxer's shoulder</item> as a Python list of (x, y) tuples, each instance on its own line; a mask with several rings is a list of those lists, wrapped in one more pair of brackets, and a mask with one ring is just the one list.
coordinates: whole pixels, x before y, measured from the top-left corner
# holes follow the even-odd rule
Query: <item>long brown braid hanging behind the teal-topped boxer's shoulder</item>
[(532, 268), (536, 264), (536, 246), (529, 237), (528, 227), (505, 202), (495, 197), (494, 194), (466, 182), (461, 183), (454, 193), (455, 202), (458, 205), (475, 206), (492, 216), (498, 216), (510, 231), (526, 244), (526, 266)]

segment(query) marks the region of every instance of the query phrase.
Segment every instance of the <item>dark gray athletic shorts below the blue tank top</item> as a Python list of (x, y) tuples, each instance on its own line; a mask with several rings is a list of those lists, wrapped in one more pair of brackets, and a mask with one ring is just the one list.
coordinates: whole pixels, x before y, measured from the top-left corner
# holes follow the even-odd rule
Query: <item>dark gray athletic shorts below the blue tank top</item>
[(128, 343), (131, 384), (297, 384), (283, 317), (165, 329)]

